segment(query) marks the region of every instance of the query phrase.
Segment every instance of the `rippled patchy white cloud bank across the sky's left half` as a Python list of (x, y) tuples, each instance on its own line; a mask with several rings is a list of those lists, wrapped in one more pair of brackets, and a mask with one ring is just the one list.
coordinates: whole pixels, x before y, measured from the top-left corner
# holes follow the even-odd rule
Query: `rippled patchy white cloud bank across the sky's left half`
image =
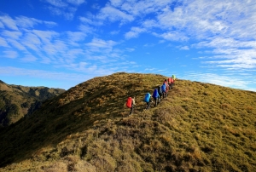
[[(56, 1), (55, 3), (60, 3)], [(56, 4), (56, 6), (60, 4)], [(110, 74), (122, 70), (119, 64), (125, 60), (124, 52), (134, 49), (117, 49), (118, 42), (111, 39), (92, 38), (85, 43), (87, 34), (84, 32), (55, 32), (36, 30), (33, 27), (39, 23), (47, 26), (42, 20), (22, 17), (12, 19), (25, 21), (19, 31), (4, 30), (0, 44), (3, 57), (16, 58), (21, 62), (37, 62), (51, 65), (56, 69), (66, 69), (73, 72), (84, 72), (92, 75)], [(17, 22), (17, 23), (19, 23)], [(84, 22), (84, 21), (83, 21)], [(16, 50), (20, 50), (19, 54)], [(108, 66), (106, 66), (108, 64)], [(133, 65), (135, 67), (135, 65)]]

